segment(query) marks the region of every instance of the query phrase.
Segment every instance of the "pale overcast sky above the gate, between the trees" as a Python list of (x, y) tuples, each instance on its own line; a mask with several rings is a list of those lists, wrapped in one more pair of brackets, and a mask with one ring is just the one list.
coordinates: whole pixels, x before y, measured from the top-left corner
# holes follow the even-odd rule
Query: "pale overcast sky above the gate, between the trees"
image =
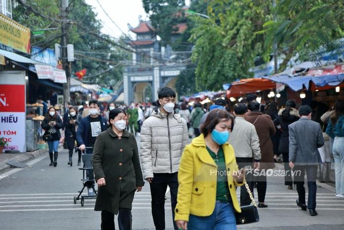
[[(129, 33), (127, 24), (132, 27), (139, 25), (139, 15), (142, 19), (146, 18), (141, 0), (98, 0), (106, 13), (116, 23), (116, 25), (124, 32)], [(86, 3), (93, 6), (93, 11), (97, 13), (97, 18), (103, 22), (102, 33), (109, 34), (118, 38), (122, 32), (115, 26), (115, 24), (106, 16), (102, 8), (99, 6), (97, 0), (86, 0)], [(130, 33), (134, 36), (133, 33)]]

